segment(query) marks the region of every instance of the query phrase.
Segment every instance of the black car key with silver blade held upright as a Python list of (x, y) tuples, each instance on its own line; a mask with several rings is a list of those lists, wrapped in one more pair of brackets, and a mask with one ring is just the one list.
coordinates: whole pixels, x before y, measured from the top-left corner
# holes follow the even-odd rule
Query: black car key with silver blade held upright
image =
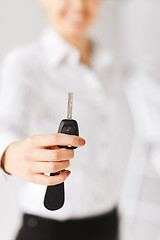
[[(59, 125), (58, 133), (79, 136), (79, 128), (76, 120), (72, 119), (73, 93), (68, 94), (68, 113), (67, 119), (63, 119)], [(58, 146), (59, 148), (76, 149), (74, 146)], [(58, 173), (51, 173), (50, 176), (58, 175)], [(65, 193), (64, 182), (48, 186), (44, 198), (44, 206), (48, 210), (58, 210), (64, 205)]]

